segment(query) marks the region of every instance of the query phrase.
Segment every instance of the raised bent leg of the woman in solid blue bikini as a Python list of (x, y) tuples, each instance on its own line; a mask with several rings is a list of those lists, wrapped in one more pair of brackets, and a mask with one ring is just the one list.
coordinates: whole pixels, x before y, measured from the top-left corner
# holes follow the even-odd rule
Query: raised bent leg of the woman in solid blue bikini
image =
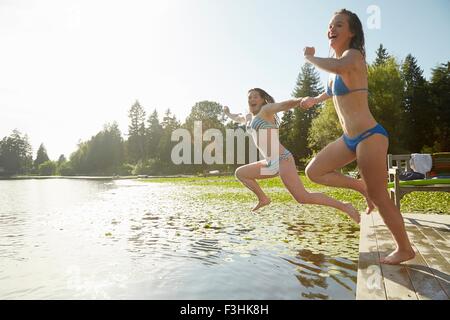
[(366, 213), (370, 213), (374, 209), (374, 204), (367, 195), (364, 181), (336, 171), (355, 159), (356, 154), (347, 148), (341, 137), (323, 148), (308, 164), (305, 173), (313, 182), (358, 191), (367, 201)]

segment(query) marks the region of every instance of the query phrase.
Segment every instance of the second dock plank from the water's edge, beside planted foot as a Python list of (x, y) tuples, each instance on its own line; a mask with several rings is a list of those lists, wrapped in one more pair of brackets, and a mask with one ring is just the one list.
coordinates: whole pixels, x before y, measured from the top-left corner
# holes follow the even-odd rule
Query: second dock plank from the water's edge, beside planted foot
[[(395, 249), (390, 231), (378, 213), (372, 213), (380, 258), (386, 257)], [(405, 265), (381, 264), (388, 300), (417, 300), (417, 294)]]

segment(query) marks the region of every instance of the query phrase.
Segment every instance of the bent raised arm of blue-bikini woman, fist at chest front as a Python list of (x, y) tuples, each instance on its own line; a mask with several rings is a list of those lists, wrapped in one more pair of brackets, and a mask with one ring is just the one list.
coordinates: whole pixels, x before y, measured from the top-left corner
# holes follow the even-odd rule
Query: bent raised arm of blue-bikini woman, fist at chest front
[(342, 74), (350, 68), (353, 68), (359, 59), (362, 58), (361, 52), (356, 49), (345, 51), (340, 58), (318, 58), (315, 57), (314, 47), (306, 47), (304, 56), (307, 61), (316, 67), (335, 74)]

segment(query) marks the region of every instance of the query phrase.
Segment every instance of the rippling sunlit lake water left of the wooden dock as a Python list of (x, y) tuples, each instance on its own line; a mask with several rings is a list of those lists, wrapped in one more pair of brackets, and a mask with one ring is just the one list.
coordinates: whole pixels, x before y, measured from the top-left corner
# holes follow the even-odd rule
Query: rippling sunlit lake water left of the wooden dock
[[(334, 210), (197, 200), (211, 187), (0, 181), (0, 299), (354, 299)], [(246, 192), (242, 189), (242, 192)]]

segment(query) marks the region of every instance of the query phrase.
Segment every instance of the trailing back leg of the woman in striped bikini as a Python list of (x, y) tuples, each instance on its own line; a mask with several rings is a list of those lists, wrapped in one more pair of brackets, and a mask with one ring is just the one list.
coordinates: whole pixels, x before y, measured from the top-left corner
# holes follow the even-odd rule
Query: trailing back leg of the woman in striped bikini
[(286, 188), (298, 203), (333, 207), (347, 213), (356, 223), (360, 222), (359, 213), (352, 204), (337, 201), (323, 193), (306, 191), (297, 174), (294, 158), (292, 158), (292, 156), (287, 160), (280, 161), (280, 177)]

